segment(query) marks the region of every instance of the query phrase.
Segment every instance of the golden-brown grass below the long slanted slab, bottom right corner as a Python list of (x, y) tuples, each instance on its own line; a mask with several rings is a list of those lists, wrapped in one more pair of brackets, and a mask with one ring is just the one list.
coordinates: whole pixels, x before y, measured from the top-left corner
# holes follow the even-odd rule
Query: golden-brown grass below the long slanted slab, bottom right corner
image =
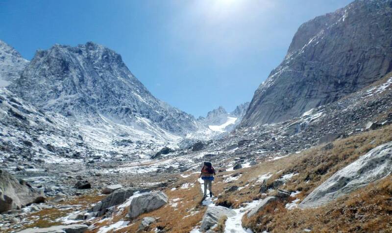
[(329, 205), (289, 211), (284, 203), (270, 203), (243, 224), (254, 232), (317, 233), (392, 232), (392, 176), (371, 184)]

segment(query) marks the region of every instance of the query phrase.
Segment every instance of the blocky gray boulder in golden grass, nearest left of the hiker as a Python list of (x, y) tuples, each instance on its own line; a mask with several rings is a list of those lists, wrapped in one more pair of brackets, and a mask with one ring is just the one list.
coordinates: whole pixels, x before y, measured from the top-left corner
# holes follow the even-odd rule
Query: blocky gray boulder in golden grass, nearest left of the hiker
[(162, 192), (149, 192), (132, 199), (129, 216), (135, 218), (142, 213), (147, 213), (161, 208), (168, 203), (168, 196)]

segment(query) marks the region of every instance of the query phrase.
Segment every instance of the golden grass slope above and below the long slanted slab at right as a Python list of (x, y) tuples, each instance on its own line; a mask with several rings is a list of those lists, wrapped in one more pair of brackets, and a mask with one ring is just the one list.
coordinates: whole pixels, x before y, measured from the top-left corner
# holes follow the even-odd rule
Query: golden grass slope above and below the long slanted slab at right
[[(303, 199), (336, 171), (389, 141), (392, 126), (335, 141), (329, 150), (321, 145), (303, 151), (297, 161), (273, 175), (267, 184), (282, 174), (298, 173), (283, 188), (301, 191), (296, 198)], [(287, 202), (290, 200), (270, 203), (252, 218), (244, 217), (244, 226), (254, 232), (271, 233), (297, 233), (304, 229), (318, 233), (392, 232), (392, 176), (316, 209), (289, 211), (285, 208)]]

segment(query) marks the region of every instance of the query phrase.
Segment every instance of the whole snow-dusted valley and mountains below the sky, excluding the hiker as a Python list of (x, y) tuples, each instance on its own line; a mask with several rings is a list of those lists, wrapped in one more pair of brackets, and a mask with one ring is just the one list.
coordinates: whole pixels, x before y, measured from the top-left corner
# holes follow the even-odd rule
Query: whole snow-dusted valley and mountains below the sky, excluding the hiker
[(250, 102), (198, 118), (98, 43), (0, 41), (0, 231), (391, 232), (391, 3), (305, 22)]

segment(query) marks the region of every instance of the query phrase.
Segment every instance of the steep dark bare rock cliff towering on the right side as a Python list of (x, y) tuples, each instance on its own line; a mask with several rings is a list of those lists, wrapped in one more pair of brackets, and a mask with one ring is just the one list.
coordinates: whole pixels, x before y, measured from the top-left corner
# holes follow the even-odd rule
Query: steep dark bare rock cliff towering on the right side
[(392, 70), (391, 44), (391, 0), (356, 0), (302, 24), (241, 125), (300, 116), (379, 80)]

